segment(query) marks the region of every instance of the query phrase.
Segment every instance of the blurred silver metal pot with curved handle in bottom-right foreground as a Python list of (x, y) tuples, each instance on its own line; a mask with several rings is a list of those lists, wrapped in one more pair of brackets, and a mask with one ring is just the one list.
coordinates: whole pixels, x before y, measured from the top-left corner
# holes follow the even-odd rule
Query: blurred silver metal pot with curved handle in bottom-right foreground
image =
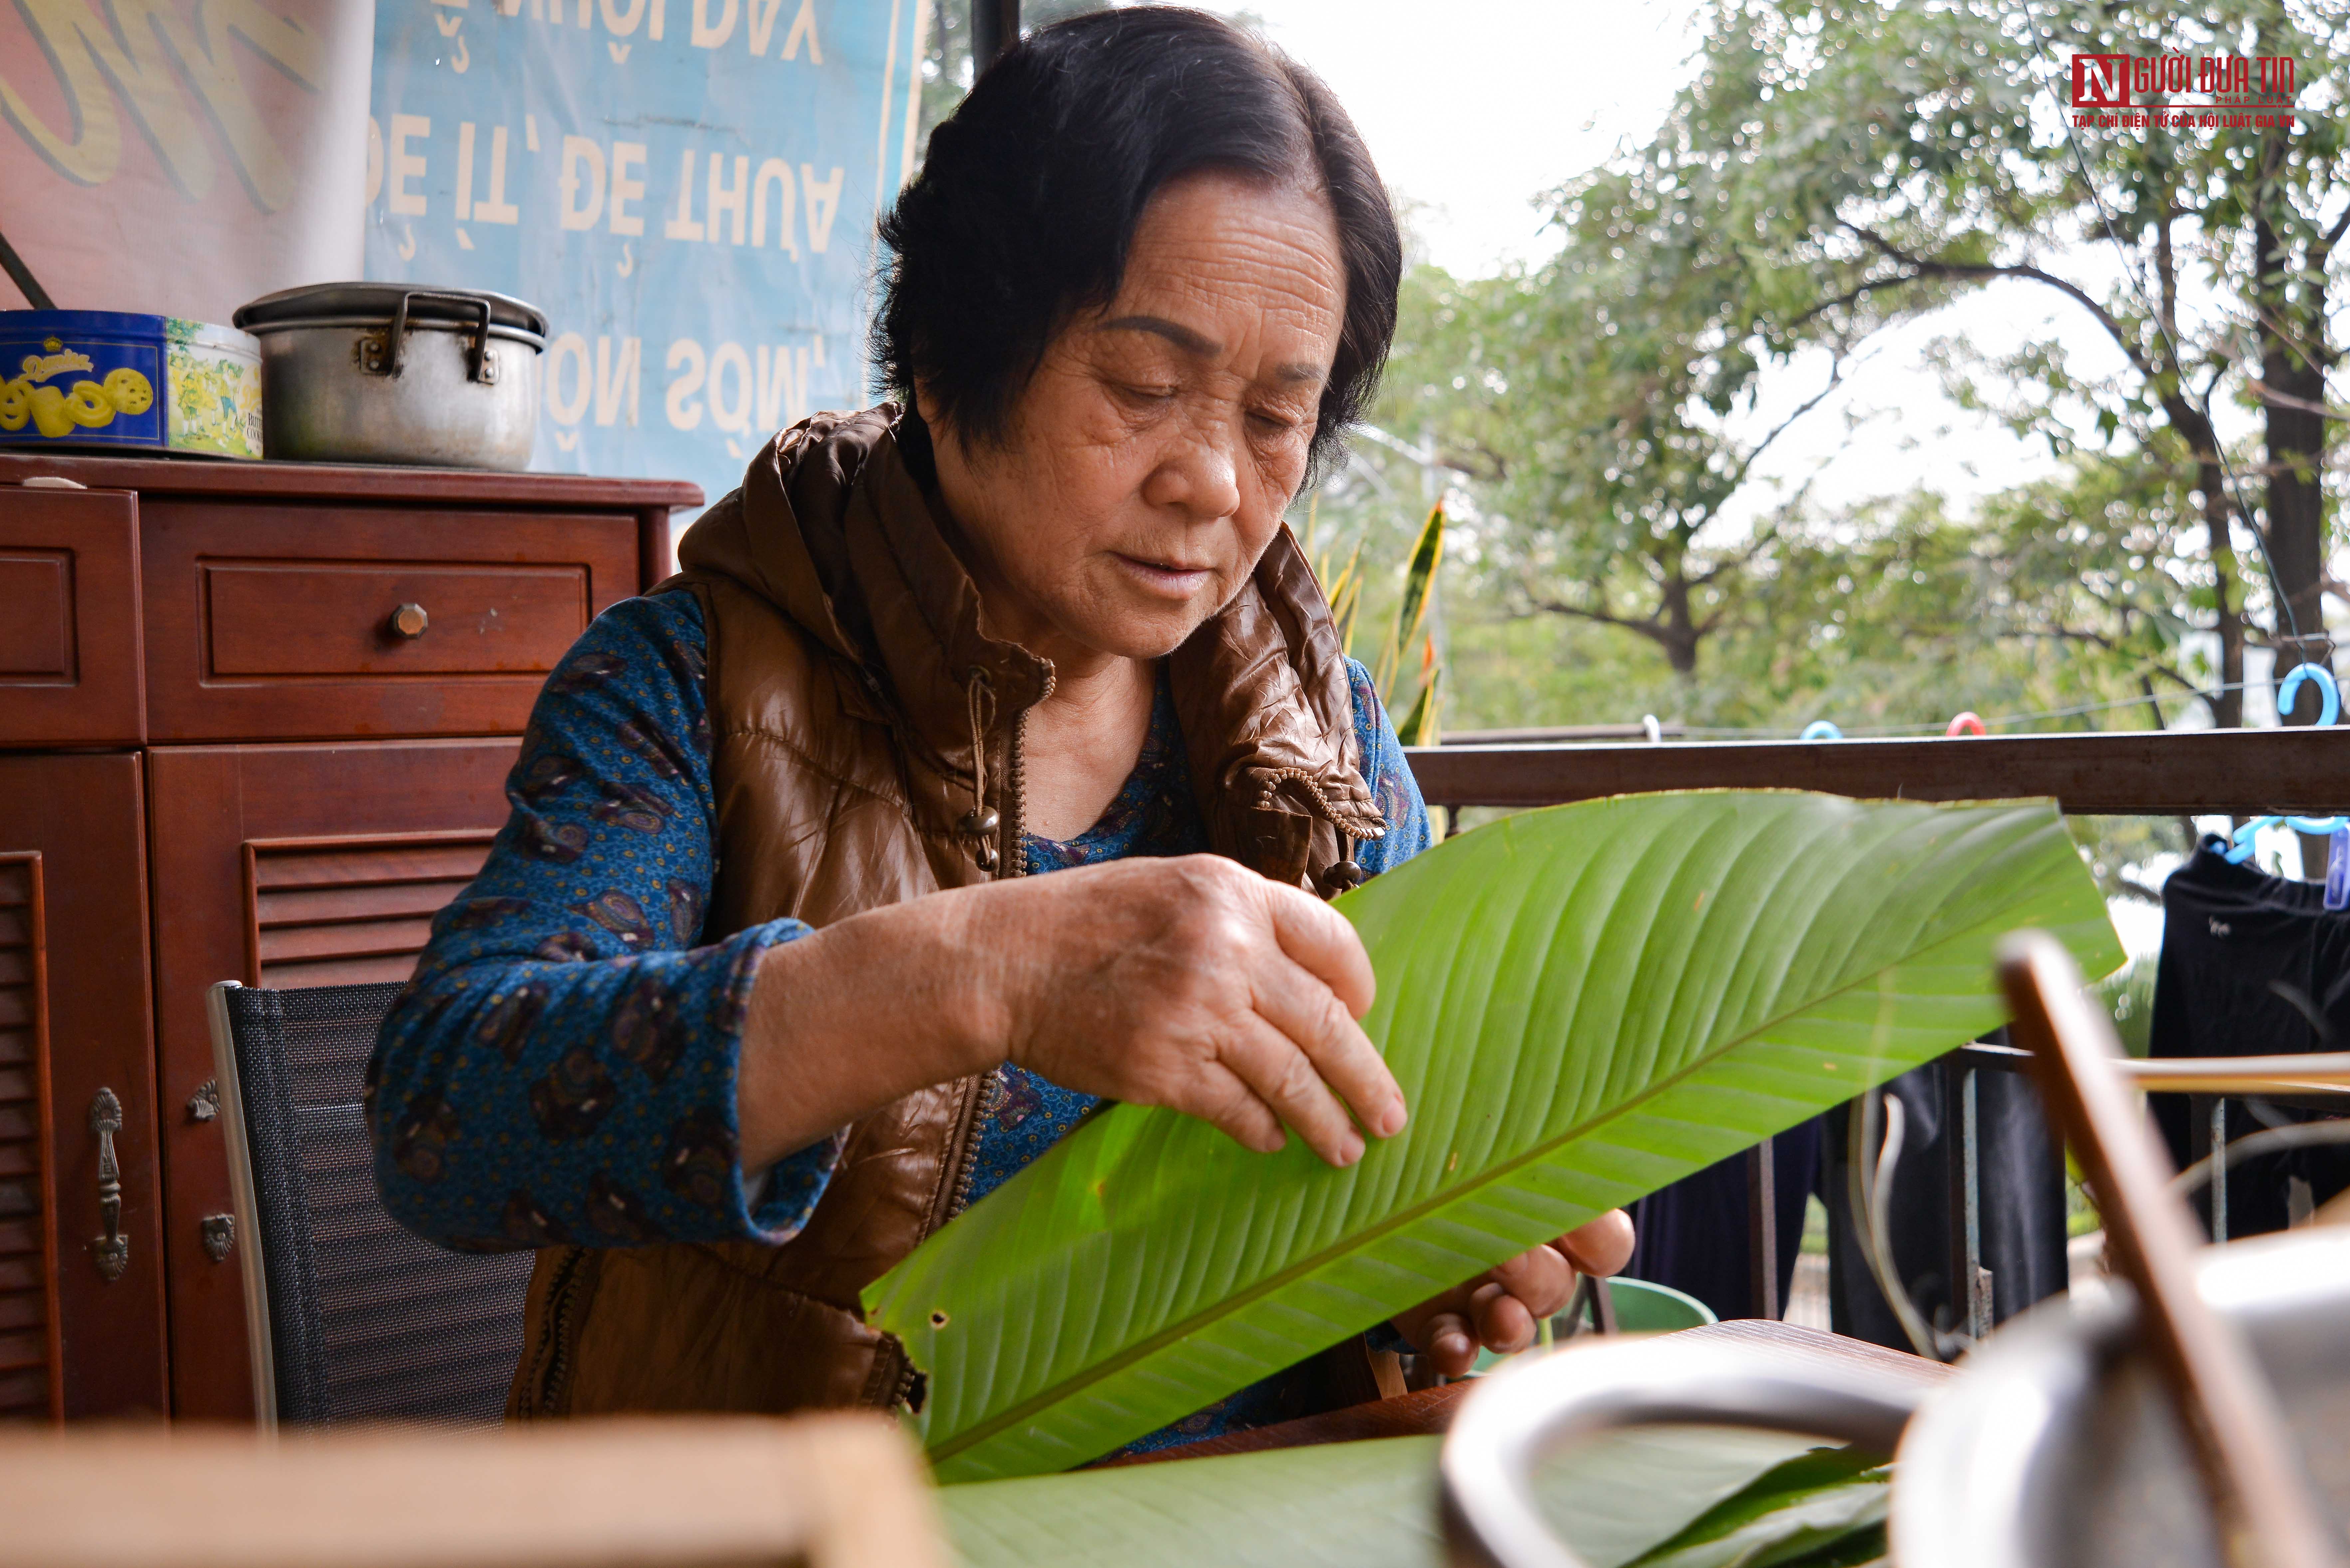
[[(2277, 1389), (2312, 1481), (2350, 1519), (2350, 1232), (2310, 1229), (2204, 1253), (2204, 1300)], [(1567, 1349), (1488, 1380), (1443, 1453), (1452, 1561), (1582, 1568), (1542, 1521), (1535, 1465), (1577, 1436), (1640, 1422), (1817, 1432), (1894, 1450), (1901, 1568), (2221, 1568), (2186, 1436), (2131, 1345), (2124, 1291), (2052, 1302), (1922, 1389), (1873, 1366), (1668, 1338)], [(1911, 1410), (1915, 1408), (1915, 1418)]]

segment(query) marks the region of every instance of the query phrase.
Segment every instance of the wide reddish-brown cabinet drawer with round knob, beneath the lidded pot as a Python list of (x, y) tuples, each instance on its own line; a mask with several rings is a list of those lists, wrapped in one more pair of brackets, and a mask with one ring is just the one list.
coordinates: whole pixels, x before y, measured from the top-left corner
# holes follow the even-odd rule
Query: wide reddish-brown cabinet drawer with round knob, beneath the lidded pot
[(148, 501), (148, 733), (519, 731), (564, 649), (637, 592), (637, 520)]

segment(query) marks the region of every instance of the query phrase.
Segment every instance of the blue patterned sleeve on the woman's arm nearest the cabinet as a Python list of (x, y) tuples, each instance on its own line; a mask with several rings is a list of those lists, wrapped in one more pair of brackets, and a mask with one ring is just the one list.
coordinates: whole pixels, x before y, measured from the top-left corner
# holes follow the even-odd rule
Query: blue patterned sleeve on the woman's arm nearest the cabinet
[(752, 976), (808, 926), (698, 945), (717, 825), (705, 646), (684, 592), (580, 635), (531, 710), (489, 863), (383, 1020), (376, 1182), (442, 1246), (787, 1241), (825, 1192), (834, 1140), (764, 1182), (738, 1159)]

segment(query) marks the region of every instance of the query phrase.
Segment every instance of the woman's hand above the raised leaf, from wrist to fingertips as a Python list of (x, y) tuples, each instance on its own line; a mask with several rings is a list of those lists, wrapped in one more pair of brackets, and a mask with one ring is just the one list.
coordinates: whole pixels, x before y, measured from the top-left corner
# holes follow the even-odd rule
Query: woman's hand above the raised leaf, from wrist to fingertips
[[(1332, 1166), (1403, 1131), (1356, 1023), (1375, 978), (1330, 905), (1222, 856), (999, 882), (1003, 1056), (1062, 1088), (1166, 1105), (1250, 1150), (1295, 1131)], [(1351, 1107), (1351, 1117), (1349, 1117)]]

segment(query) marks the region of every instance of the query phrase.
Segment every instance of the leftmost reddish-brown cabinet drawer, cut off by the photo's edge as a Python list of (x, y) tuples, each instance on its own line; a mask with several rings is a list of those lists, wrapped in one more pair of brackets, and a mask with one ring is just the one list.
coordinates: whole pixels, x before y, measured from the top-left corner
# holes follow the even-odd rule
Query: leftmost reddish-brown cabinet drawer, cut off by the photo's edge
[(139, 501), (0, 487), (0, 748), (139, 745)]

